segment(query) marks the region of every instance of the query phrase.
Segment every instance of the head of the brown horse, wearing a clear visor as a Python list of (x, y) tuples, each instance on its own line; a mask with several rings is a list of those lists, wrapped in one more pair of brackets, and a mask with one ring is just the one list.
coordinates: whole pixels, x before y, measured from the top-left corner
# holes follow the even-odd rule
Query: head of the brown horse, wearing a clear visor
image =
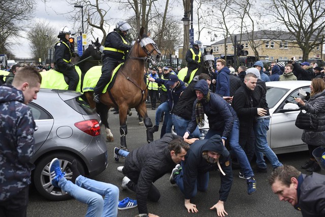
[(137, 43), (139, 43), (140, 47), (142, 48), (142, 50), (138, 52), (139, 57), (147, 57), (150, 59), (153, 65), (156, 65), (160, 61), (161, 52), (159, 51), (156, 43), (154, 43), (154, 41), (149, 38), (150, 33), (145, 34), (144, 31), (145, 28), (141, 27), (140, 37), (137, 40)]

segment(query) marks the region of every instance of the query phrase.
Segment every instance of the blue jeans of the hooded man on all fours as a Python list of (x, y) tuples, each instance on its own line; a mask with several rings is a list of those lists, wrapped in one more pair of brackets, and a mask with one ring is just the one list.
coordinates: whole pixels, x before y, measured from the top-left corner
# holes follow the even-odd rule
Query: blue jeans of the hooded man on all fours
[[(182, 167), (184, 166), (183, 162), (181, 163), (181, 165)], [(174, 180), (176, 181), (179, 190), (181, 190), (181, 192), (184, 194), (183, 170), (181, 170), (179, 175), (177, 175)], [(201, 192), (206, 192), (208, 189), (208, 184), (209, 184), (209, 172), (206, 172), (204, 174), (198, 173), (196, 184), (194, 186), (193, 192), (191, 192), (190, 197), (191, 198), (195, 197), (198, 193), (198, 190)]]

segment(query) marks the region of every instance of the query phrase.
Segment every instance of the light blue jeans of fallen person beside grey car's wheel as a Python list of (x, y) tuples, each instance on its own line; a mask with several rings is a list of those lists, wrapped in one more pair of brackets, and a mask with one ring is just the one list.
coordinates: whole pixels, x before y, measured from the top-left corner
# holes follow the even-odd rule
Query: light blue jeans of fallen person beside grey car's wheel
[(86, 216), (117, 216), (119, 190), (115, 185), (82, 175), (76, 178), (76, 184), (63, 177), (58, 185), (78, 201), (88, 204)]

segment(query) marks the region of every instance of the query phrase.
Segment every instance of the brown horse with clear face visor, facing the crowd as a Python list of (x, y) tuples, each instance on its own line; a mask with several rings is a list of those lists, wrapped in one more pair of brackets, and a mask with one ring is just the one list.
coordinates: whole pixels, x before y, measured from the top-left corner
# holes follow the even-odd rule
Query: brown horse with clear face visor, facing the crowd
[[(147, 98), (147, 84), (144, 81), (143, 70), (145, 63), (151, 61), (153, 65), (160, 61), (161, 53), (150, 34), (145, 34), (145, 29), (140, 29), (140, 36), (133, 45), (125, 63), (116, 74), (114, 85), (101, 96), (101, 103), (108, 108), (119, 108), (121, 148), (126, 149), (126, 114), (129, 108), (135, 108), (144, 118), (147, 128), (147, 142), (153, 141), (153, 135), (148, 132), (152, 128), (152, 122), (147, 114), (145, 100)], [(92, 92), (85, 92), (87, 100), (93, 102)], [(90, 104), (91, 106), (91, 104)]]

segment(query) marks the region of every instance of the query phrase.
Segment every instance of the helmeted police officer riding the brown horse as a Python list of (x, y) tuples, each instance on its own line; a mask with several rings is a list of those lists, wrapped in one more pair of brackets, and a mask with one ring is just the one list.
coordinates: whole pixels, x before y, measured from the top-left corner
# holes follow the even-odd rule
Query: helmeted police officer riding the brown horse
[(112, 78), (112, 71), (119, 63), (125, 61), (125, 54), (131, 49), (130, 43), (125, 39), (128, 30), (132, 27), (125, 21), (116, 24), (114, 31), (106, 36), (103, 55), (102, 76), (94, 88), (94, 98), (96, 103), (100, 102), (100, 96), (104, 87)]

